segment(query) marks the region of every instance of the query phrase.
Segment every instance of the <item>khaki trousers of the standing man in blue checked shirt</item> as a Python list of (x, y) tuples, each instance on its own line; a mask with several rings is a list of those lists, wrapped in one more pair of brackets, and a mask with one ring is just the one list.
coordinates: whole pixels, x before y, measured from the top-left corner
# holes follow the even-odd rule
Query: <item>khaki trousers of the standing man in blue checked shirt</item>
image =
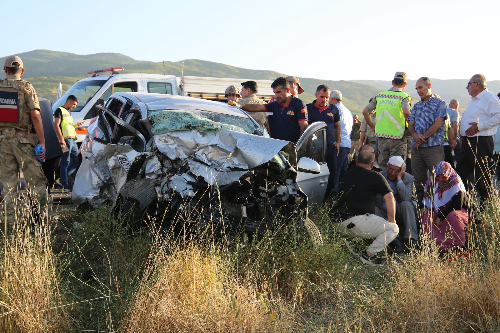
[(444, 147), (433, 145), (430, 147), (411, 148), (411, 175), (415, 177), (417, 202), (420, 205), (423, 199), (423, 186), (427, 181), (427, 171), (432, 172), (440, 161), (444, 160)]

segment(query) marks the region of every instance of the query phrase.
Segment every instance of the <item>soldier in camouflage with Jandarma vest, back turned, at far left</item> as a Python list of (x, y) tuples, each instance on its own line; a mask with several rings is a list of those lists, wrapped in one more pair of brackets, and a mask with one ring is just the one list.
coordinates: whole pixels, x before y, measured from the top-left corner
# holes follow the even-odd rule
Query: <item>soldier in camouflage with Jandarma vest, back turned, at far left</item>
[[(47, 180), (34, 153), (38, 141), (45, 147), (38, 97), (31, 83), (20, 78), (24, 73), (21, 58), (7, 56), (3, 69), (6, 78), (0, 80), (0, 180), (5, 190), (7, 222), (9, 227), (15, 227), (17, 222), (15, 212), (19, 210), (17, 181), (20, 167), (31, 202), (39, 204), (35, 207), (36, 211), (52, 222), (54, 211), (47, 196)], [(38, 156), (43, 160), (45, 152)]]

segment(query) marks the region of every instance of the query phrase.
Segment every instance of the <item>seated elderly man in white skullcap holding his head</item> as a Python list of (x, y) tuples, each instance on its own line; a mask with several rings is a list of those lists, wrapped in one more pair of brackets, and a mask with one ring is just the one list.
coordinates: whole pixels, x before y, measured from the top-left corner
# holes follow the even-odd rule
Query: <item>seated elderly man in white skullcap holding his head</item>
[[(386, 169), (380, 172), (390, 188), (396, 201), (396, 221), (404, 223), (400, 228), (400, 236), (403, 236), (406, 247), (396, 246), (395, 252), (402, 252), (409, 248), (409, 244), (415, 247), (418, 241), (418, 229), (416, 224), (416, 191), (415, 178), (406, 172), (406, 164), (401, 156), (392, 156), (387, 162)], [(375, 199), (375, 215), (387, 216), (385, 201), (380, 195)]]

